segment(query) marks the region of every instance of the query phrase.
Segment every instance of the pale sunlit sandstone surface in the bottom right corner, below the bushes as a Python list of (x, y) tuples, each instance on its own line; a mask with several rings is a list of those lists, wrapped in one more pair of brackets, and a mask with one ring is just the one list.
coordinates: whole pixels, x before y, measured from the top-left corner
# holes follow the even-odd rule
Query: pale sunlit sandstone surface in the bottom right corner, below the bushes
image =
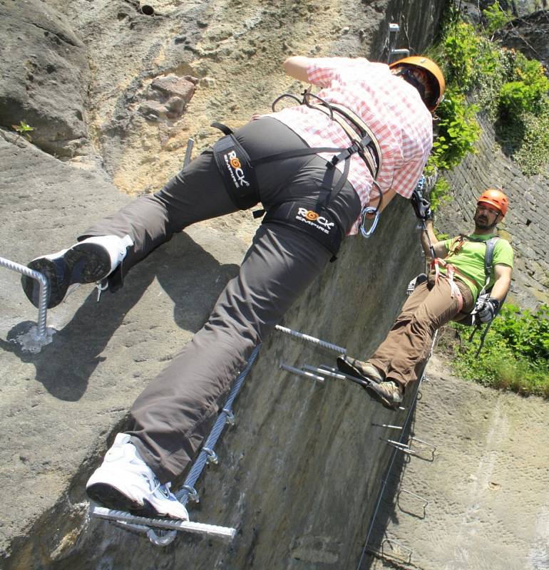
[[(464, 382), (436, 358), (427, 378), (410, 435), (436, 449), (414, 442), (417, 455), (396, 458), (374, 550), (389, 539), (387, 556), (411, 555), (424, 570), (547, 568), (546, 406)], [(380, 559), (364, 563), (386, 568)]]

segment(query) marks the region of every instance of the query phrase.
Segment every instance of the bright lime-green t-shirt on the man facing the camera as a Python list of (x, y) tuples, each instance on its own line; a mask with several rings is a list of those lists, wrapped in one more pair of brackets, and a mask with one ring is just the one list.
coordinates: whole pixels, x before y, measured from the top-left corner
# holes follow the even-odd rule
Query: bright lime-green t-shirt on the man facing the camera
[[(480, 293), (486, 279), (486, 276), (484, 274), (484, 256), (486, 254), (486, 244), (484, 242), (486, 242), (491, 237), (494, 237), (495, 235), (496, 234), (469, 234), (466, 236), (467, 239), (465, 242), (463, 242), (461, 249), (455, 253), (450, 252), (453, 252), (453, 250), (455, 250), (458, 246), (458, 238), (446, 239), (446, 241), (443, 242), (444, 246), (448, 250), (448, 256), (445, 258), (445, 261), (448, 261), (448, 263), (455, 265), (456, 268), (461, 271), (461, 273), (468, 276), (472, 281), (474, 281), (473, 284), (471, 281), (469, 281), (469, 279), (462, 280), (468, 285), (469, 289), (471, 289), (475, 299)], [(498, 239), (496, 242), (496, 247), (493, 250), (492, 274), (490, 276), (488, 289), (493, 286), (494, 281), (496, 281), (493, 267), (497, 264), (504, 264), (508, 265), (509, 267), (513, 267), (513, 248), (510, 246), (510, 243), (503, 238)]]

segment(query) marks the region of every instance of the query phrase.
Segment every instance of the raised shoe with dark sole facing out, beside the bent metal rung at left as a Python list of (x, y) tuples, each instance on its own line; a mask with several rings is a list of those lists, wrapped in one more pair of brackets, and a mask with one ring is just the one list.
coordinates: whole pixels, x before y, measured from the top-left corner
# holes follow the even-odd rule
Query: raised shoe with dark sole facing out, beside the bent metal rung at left
[[(51, 309), (58, 306), (78, 285), (105, 279), (118, 267), (132, 245), (130, 236), (88, 237), (69, 249), (36, 257), (27, 267), (40, 271), (48, 279), (48, 309)], [(38, 307), (39, 282), (24, 275), (21, 285), (29, 301)]]

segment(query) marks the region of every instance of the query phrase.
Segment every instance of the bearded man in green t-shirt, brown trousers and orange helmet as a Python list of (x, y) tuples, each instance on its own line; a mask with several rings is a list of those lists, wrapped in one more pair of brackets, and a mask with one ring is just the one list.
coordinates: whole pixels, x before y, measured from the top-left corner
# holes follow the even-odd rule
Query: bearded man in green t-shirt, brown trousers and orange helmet
[[(513, 249), (498, 238), (486, 284), (488, 240), (496, 237), (496, 224), (508, 209), (501, 190), (488, 188), (482, 193), (473, 216), (475, 231), (454, 239), (436, 239), (427, 206), (421, 245), (425, 254), (433, 257), (429, 278), (416, 286), (371, 358), (365, 362), (347, 356), (337, 359), (340, 371), (371, 380), (366, 390), (390, 410), (399, 408), (406, 385), (417, 379), (429, 357), (435, 331), (452, 319), (461, 320), (473, 307), (481, 323), (490, 322), (507, 295), (513, 271)], [(486, 290), (491, 290), (490, 296), (476, 304), (481, 291)]]

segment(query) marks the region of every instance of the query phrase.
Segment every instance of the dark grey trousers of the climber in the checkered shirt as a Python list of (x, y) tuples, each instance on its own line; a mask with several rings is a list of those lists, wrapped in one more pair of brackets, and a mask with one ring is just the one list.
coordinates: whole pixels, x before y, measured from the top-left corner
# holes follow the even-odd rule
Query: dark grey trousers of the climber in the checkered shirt
[[(307, 147), (274, 118), (247, 123), (235, 135), (252, 160)], [(326, 162), (317, 155), (258, 166), (263, 207), (268, 211), (279, 202), (317, 198), (325, 172)], [(335, 182), (339, 176), (337, 171)], [(329, 203), (329, 212), (345, 232), (360, 209), (359, 197), (349, 182)], [(124, 271), (128, 271), (175, 232), (236, 210), (212, 152), (207, 150), (163, 190), (131, 202), (80, 239), (129, 234), (134, 247), (123, 261)], [(173, 480), (193, 460), (253, 348), (275, 328), (330, 257), (317, 240), (291, 227), (262, 224), (257, 229), (239, 274), (222, 291), (205, 325), (143, 390), (130, 410), (126, 432), (161, 482)]]

